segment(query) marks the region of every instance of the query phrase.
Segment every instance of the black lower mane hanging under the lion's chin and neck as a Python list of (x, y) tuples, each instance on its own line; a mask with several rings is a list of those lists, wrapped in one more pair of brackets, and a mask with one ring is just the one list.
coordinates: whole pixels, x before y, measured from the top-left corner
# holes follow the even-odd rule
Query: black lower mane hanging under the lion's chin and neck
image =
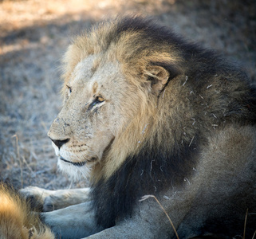
[(172, 152), (145, 146), (139, 155), (129, 157), (107, 182), (97, 182), (92, 195), (98, 224), (108, 228), (115, 224), (116, 217), (132, 215), (132, 207), (145, 194), (157, 195), (171, 182), (182, 183), (187, 171), (195, 167), (197, 139), (193, 142)]

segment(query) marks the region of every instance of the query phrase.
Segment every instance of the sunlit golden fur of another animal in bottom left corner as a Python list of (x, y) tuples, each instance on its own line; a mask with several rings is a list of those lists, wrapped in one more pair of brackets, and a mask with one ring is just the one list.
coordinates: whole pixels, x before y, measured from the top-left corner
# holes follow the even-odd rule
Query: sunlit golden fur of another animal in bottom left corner
[(6, 184), (0, 183), (0, 238), (53, 239), (29, 204)]

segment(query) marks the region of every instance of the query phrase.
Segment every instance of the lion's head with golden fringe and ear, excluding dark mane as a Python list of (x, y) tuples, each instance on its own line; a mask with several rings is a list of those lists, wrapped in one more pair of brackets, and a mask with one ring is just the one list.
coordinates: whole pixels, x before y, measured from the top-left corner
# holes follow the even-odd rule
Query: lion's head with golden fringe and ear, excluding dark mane
[[(108, 178), (143, 143), (160, 93), (178, 69), (166, 46), (145, 45), (144, 29), (105, 23), (77, 37), (65, 54), (64, 106), (49, 130), (61, 170), (77, 177), (103, 170)], [(102, 37), (104, 36), (104, 37)], [(145, 44), (145, 43), (144, 43)], [(173, 69), (174, 70), (174, 69)], [(93, 175), (96, 178), (96, 174)]]

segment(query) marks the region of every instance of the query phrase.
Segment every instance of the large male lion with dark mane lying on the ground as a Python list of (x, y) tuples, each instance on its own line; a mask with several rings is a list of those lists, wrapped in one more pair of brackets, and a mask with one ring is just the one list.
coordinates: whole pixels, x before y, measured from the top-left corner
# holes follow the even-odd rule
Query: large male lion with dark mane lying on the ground
[[(54, 233), (253, 237), (256, 90), (242, 69), (152, 20), (126, 17), (78, 36), (63, 79), (49, 137), (61, 170), (89, 176), (91, 189), (84, 203), (42, 214)], [(57, 209), (64, 198), (78, 202), (65, 193), (41, 200)], [(173, 227), (154, 198), (140, 202), (148, 194)]]

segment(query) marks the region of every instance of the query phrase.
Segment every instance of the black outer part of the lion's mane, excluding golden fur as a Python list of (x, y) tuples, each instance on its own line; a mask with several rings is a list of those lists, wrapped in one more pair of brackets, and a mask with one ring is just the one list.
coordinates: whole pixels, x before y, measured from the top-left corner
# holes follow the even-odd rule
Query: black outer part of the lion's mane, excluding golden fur
[[(182, 89), (184, 93), (181, 90), (180, 96), (183, 98), (180, 100), (186, 100), (186, 103), (191, 105), (190, 110), (194, 113), (198, 126), (195, 130), (193, 127), (193, 140), (180, 144), (182, 128), (171, 128), (173, 118), (163, 119), (165, 125), (162, 126), (161, 134), (165, 133), (152, 135), (155, 139), (164, 137), (162, 145), (145, 143), (140, 153), (128, 157), (112, 177), (106, 181), (101, 179), (93, 185), (92, 197), (96, 219), (104, 228), (115, 225), (116, 218), (131, 215), (133, 206), (145, 194), (157, 195), (160, 191), (167, 190), (171, 182), (175, 185), (182, 183), (183, 178), (191, 174), (191, 169), (196, 165), (195, 156), (200, 151), (199, 145), (207, 143), (204, 131), (213, 131), (213, 124), (225, 127), (228, 123), (256, 123), (255, 88), (250, 86), (245, 72), (226, 63), (219, 54), (203, 49), (199, 45), (187, 43), (171, 29), (157, 25), (153, 20), (123, 18), (114, 30), (107, 36), (109, 45), (112, 41), (118, 41), (120, 35), (125, 32), (143, 32), (147, 44), (138, 43), (140, 46), (136, 47), (134, 54), (140, 54), (140, 51), (150, 45), (152, 50), (170, 45), (170, 53), (171, 49), (179, 53), (182, 57), (181, 62), (176, 62), (175, 65), (164, 62), (157, 64), (170, 72), (171, 79), (175, 76), (180, 77), (175, 81), (180, 87), (185, 79), (188, 79)], [(167, 87), (172, 84), (171, 82), (170, 80)], [(171, 106), (168, 110), (172, 110)], [(186, 120), (191, 122), (191, 119), (180, 120), (184, 121), (180, 125), (186, 125)], [(168, 148), (166, 141), (170, 137), (176, 137), (177, 143)]]

